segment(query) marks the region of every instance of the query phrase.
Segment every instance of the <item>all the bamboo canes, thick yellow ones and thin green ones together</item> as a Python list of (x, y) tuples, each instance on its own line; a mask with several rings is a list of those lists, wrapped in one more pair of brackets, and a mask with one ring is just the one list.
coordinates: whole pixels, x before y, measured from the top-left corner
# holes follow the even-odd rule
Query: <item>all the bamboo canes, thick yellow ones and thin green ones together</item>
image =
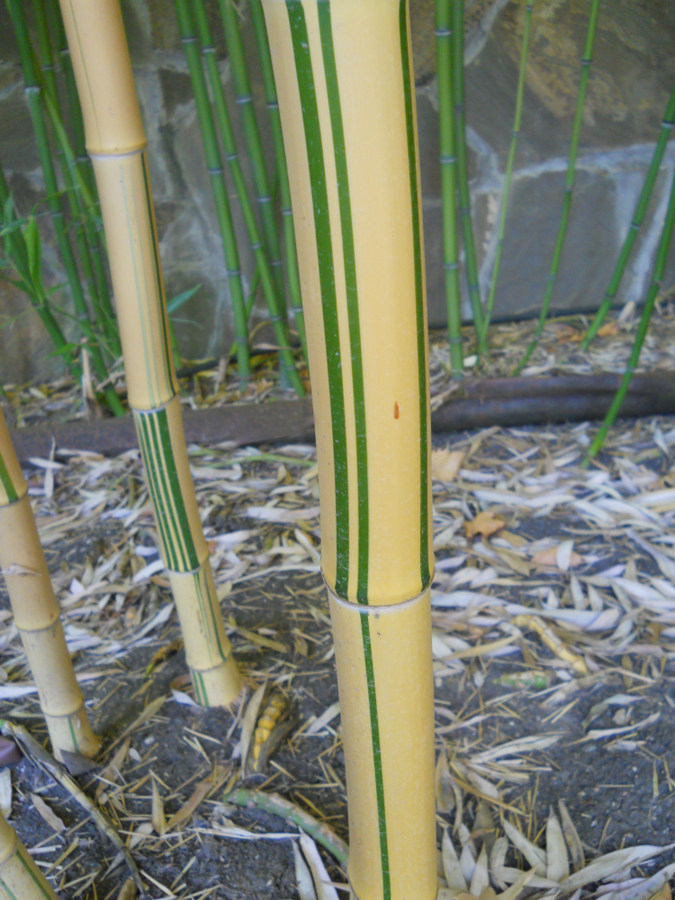
[[(128, 404), (194, 693), (205, 706), (231, 705), (242, 682), (225, 633), (189, 471), (147, 140), (119, 2), (100, 0), (94, 5), (90, 0), (60, 0), (59, 17), (54, 0), (35, 0), (35, 46), (22, 4), (7, 3), (40, 148), (49, 216), (80, 330), (77, 346), (66, 338), (44, 288), (36, 219), (19, 216), (0, 171), (5, 256), (72, 376), (82, 380), (91, 368), (92, 394), (112, 413), (123, 411), (109, 372), (121, 352)], [(333, 628), (347, 770), (350, 886), (358, 900), (432, 900), (437, 876), (430, 412), (408, 4), (406, 0), (251, 0), (275, 153), (272, 178), (251, 102), (249, 63), (237, 9), (232, 0), (219, 0), (218, 10), (241, 111), (252, 190), (239, 158), (205, 3), (175, 0), (226, 262), (239, 378), (245, 385), (251, 376), (249, 319), (258, 285), (274, 329), (282, 383), (298, 394), (304, 392), (293, 330), (311, 372), (321, 563)], [(467, 165), (463, 3), (436, 0), (442, 265), (451, 370), (456, 378), (464, 371), (462, 250), (477, 347), (481, 354), (489, 351), (536, 11), (535, 3), (523, 5), (497, 254), (484, 304)], [(591, 0), (560, 223), (535, 337), (518, 372), (536, 347), (553, 297), (573, 198), (599, 14), (599, 0)], [(375, 42), (373, 34), (378, 35)], [(60, 92), (52, 79), (55, 46), (69, 87), (72, 145), (59, 110)], [(617, 295), (647, 216), (674, 120), (675, 88), (631, 228), (586, 344)], [(52, 143), (58, 148), (60, 175)], [(85, 148), (91, 164), (83, 161)], [(72, 231), (64, 224), (60, 183), (66, 187), (70, 213), (77, 223)], [(281, 239), (273, 207), (277, 189), (283, 213)], [(255, 288), (250, 287), (248, 296), (232, 194), (255, 262)], [(99, 202), (103, 230), (97, 221)], [(637, 364), (674, 226), (675, 176), (629, 367), (589, 458), (600, 449)], [(111, 285), (101, 262), (106, 254)], [(0, 567), (55, 755), (94, 756), (98, 740), (73, 673), (26, 481), (1, 413)], [(55, 896), (4, 819), (0, 819), (0, 891), (27, 900)]]

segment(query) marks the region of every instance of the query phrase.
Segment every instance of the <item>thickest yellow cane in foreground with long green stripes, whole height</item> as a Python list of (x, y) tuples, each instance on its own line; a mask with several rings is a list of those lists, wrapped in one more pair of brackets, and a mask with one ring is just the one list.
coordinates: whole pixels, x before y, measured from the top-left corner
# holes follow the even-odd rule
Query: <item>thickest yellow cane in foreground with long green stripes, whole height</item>
[(405, 0), (263, 0), (289, 164), (358, 900), (436, 896), (426, 313)]

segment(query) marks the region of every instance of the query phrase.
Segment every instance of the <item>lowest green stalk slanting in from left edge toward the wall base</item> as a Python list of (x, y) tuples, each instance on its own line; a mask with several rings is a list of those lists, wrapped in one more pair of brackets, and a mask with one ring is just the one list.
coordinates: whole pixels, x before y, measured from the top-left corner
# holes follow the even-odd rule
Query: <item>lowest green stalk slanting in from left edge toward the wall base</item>
[(71, 352), (71, 345), (66, 340), (61, 326), (51, 312), (42, 279), (35, 277), (34, 267), (29, 262), (26, 241), (23, 232), (19, 228), (18, 218), (14, 211), (14, 204), (10, 198), (2, 167), (0, 167), (0, 207), (2, 207), (2, 222), (4, 223), (5, 252), (20, 279), (16, 282), (17, 287), (28, 296), (57, 353), (63, 359), (73, 378), (80, 382), (82, 380), (82, 368)]

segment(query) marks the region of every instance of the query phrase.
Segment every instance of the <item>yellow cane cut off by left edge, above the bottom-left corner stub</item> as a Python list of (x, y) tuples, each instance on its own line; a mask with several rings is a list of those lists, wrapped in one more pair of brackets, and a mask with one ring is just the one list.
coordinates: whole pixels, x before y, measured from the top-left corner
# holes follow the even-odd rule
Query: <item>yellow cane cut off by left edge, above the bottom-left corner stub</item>
[(94, 756), (98, 739), (61, 627), (58, 601), (28, 498), (28, 486), (0, 410), (0, 568), (14, 621), (38, 689), (40, 707), (57, 759), (63, 753)]

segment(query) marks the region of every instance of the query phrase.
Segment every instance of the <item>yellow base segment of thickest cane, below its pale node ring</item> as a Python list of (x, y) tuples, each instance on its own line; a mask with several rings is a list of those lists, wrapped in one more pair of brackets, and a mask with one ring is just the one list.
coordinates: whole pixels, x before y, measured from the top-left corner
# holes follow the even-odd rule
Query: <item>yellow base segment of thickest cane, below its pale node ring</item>
[(329, 598), (347, 768), (352, 896), (433, 900), (429, 591), (393, 606), (348, 603), (331, 591)]

